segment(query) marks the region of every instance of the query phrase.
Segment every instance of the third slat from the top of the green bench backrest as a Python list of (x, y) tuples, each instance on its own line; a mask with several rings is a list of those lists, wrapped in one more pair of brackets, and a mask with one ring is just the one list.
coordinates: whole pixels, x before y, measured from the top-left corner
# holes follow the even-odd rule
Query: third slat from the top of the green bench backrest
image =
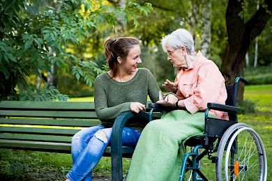
[(91, 127), (100, 124), (99, 120), (82, 120), (82, 119), (38, 119), (38, 118), (0, 118), (0, 124), (10, 125), (47, 125), (63, 127)]

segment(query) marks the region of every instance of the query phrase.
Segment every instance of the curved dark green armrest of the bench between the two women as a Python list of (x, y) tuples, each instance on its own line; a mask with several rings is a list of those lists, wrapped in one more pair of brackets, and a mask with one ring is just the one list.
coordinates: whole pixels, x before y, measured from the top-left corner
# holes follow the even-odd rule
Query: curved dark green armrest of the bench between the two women
[(123, 127), (130, 118), (139, 118), (139, 121), (149, 121), (149, 115), (143, 111), (135, 113), (133, 111), (120, 113), (114, 120), (112, 127), (112, 180), (122, 180), (122, 132)]

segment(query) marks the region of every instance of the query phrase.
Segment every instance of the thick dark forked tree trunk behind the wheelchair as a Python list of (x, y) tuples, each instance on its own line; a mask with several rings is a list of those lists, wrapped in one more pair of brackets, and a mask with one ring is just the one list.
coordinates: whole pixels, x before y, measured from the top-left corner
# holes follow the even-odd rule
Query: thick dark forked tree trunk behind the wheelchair
[[(271, 17), (272, 1), (265, 0), (266, 8), (260, 6), (259, 10), (244, 23), (243, 1), (229, 0), (226, 12), (228, 45), (223, 57), (221, 71), (226, 79), (226, 84), (233, 83), (235, 78), (243, 76), (245, 54), (252, 40), (264, 29), (266, 22)], [(269, 10), (269, 11), (267, 11)], [(243, 86), (239, 88), (237, 102), (243, 101)]]

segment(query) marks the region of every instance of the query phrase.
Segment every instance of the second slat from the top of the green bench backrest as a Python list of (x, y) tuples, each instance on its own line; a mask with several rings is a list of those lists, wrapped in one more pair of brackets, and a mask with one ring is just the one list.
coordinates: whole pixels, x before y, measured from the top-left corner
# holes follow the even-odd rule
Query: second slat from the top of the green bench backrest
[(91, 111), (17, 111), (0, 110), (0, 116), (10, 117), (37, 117), (37, 118), (93, 118), (97, 119), (96, 112)]

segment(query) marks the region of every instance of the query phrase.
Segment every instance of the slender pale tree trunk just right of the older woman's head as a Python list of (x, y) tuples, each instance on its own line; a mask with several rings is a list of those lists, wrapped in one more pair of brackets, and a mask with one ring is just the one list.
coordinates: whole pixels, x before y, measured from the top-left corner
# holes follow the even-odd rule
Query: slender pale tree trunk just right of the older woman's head
[(201, 52), (206, 58), (211, 56), (211, 1), (204, 1), (202, 8)]

